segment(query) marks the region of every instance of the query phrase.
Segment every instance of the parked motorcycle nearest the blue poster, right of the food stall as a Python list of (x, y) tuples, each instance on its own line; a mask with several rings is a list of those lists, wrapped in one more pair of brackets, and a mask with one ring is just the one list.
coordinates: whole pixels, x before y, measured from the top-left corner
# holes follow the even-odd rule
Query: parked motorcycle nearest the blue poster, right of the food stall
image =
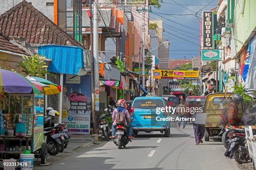
[(59, 134), (59, 139), (61, 141), (60, 145), (60, 153), (64, 151), (64, 148), (67, 148), (67, 145), (69, 143), (70, 135), (67, 134), (68, 129), (66, 128), (66, 123), (60, 123), (56, 126), (55, 133)]

